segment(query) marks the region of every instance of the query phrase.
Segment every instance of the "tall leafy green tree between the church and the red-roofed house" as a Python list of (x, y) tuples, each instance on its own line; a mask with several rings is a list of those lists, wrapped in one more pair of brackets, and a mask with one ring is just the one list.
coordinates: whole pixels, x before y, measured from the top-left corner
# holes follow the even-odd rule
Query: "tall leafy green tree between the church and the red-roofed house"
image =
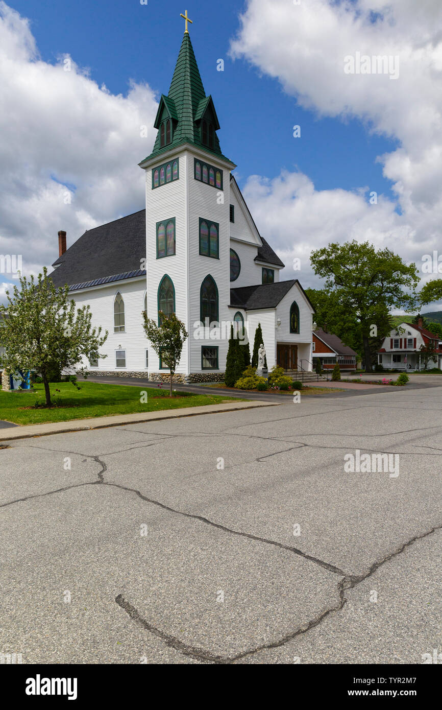
[[(316, 275), (326, 280), (326, 293), (360, 324), (365, 355), (365, 371), (371, 371), (370, 338), (379, 337), (380, 324), (392, 309), (412, 312), (416, 308), (419, 275), (414, 263), (406, 264), (389, 249), (376, 250), (368, 241), (358, 244), (328, 244), (311, 253)], [(373, 326), (377, 328), (375, 336)]]

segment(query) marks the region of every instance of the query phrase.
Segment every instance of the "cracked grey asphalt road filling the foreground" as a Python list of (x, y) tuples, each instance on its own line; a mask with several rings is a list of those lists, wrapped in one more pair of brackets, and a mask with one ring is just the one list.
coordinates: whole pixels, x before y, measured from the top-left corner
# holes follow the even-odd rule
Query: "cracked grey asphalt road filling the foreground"
[[(0, 449), (0, 652), (421, 663), (442, 652), (442, 388)], [(344, 456), (399, 455), (347, 473)], [(392, 459), (394, 460), (394, 459)]]

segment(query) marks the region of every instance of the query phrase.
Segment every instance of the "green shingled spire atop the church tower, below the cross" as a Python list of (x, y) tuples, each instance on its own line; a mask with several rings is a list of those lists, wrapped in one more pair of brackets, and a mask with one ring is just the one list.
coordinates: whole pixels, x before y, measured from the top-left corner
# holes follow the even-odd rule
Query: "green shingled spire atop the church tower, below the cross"
[[(170, 121), (171, 130), (169, 143), (167, 143), (167, 121)], [(167, 96), (162, 94), (160, 99), (154, 127), (158, 129), (158, 135), (152, 153), (145, 160), (157, 154), (161, 155), (182, 143), (194, 143), (195, 146), (204, 148), (204, 151), (225, 158), (216, 135), (220, 126), (214, 102), (211, 96), (206, 97), (204, 92), (188, 32), (185, 32), (182, 38), (169, 93)], [(162, 131), (164, 131), (164, 145), (161, 145)]]

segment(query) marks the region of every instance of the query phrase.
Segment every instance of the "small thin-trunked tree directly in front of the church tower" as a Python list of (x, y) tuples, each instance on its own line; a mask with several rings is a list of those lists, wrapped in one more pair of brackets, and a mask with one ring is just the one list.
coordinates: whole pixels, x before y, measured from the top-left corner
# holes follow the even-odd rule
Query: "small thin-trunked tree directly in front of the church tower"
[(147, 313), (143, 311), (143, 328), (156, 354), (161, 356), (162, 363), (170, 369), (170, 396), (172, 397), (173, 376), (181, 359), (182, 346), (189, 333), (175, 313), (167, 316), (160, 311), (159, 315), (160, 325), (157, 325), (155, 320), (148, 318)]

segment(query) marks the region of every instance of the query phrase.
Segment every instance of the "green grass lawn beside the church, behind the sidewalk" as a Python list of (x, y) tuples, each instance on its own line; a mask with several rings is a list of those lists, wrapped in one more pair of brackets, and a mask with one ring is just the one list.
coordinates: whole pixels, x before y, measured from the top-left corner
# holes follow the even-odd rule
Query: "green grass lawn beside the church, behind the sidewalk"
[[(44, 401), (42, 384), (34, 385), (35, 392), (0, 391), (0, 420), (14, 424), (42, 424), (43, 422), (65, 422), (70, 419), (106, 417), (132, 412), (156, 412), (182, 407), (200, 407), (219, 404), (238, 398), (219, 395), (194, 395), (179, 392), (172, 399), (167, 389), (124, 385), (105, 385), (96, 382), (79, 382), (79, 391), (71, 383), (50, 385), (50, 393), (57, 401), (51, 409), (34, 409), (36, 400)], [(57, 392), (60, 390), (60, 392)], [(140, 403), (142, 392), (148, 393), (147, 403)]]

